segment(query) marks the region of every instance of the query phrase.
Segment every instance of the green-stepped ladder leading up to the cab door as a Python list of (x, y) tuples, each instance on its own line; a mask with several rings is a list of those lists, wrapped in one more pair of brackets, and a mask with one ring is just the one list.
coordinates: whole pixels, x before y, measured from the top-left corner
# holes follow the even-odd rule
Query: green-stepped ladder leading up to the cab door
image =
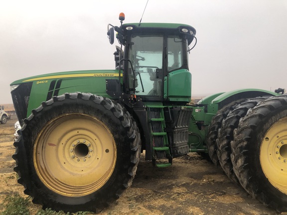
[[(172, 164), (165, 120), (162, 106), (147, 107), (149, 127), (152, 144), (152, 165), (156, 167), (168, 167)], [(158, 162), (158, 159), (168, 159), (168, 162)]]

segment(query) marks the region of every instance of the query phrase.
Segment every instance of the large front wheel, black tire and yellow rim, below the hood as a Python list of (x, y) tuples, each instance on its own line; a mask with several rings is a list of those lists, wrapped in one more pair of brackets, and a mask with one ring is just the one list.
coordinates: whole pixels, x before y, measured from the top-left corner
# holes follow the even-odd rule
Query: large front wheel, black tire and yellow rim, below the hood
[(141, 141), (135, 120), (120, 104), (65, 94), (43, 103), (24, 122), (14, 143), (14, 170), (34, 203), (98, 213), (131, 185)]

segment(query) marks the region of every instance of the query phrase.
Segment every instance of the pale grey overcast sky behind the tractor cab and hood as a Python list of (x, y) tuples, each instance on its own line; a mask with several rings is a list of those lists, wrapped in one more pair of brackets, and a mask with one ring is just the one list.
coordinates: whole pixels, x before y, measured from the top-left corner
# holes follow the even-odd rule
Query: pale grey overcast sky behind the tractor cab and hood
[[(0, 0), (0, 104), (10, 83), (114, 69), (107, 26), (139, 22), (147, 0)], [(142, 22), (193, 26), (192, 95), (287, 88), (287, 0), (148, 0)]]

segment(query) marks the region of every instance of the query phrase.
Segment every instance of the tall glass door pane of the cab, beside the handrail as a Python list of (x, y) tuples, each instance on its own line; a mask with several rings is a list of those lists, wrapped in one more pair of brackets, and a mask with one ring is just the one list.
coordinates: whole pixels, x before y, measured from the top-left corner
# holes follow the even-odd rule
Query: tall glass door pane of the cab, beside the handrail
[[(129, 59), (136, 73), (136, 94), (161, 96), (163, 35), (133, 35), (129, 49)], [(128, 74), (131, 88), (131, 68)]]

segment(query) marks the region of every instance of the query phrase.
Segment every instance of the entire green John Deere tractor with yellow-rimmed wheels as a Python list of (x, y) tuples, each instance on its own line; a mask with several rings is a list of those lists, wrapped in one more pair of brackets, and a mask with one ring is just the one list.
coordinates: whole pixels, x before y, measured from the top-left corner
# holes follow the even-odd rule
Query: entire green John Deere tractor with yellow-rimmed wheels
[[(131, 186), (141, 152), (155, 167), (197, 152), (263, 204), (287, 211), (287, 97), (242, 89), (191, 105), (186, 24), (108, 25), (114, 70), (11, 83), (22, 126), (14, 171), (33, 203), (100, 212)], [(116, 31), (116, 34), (114, 33)]]

